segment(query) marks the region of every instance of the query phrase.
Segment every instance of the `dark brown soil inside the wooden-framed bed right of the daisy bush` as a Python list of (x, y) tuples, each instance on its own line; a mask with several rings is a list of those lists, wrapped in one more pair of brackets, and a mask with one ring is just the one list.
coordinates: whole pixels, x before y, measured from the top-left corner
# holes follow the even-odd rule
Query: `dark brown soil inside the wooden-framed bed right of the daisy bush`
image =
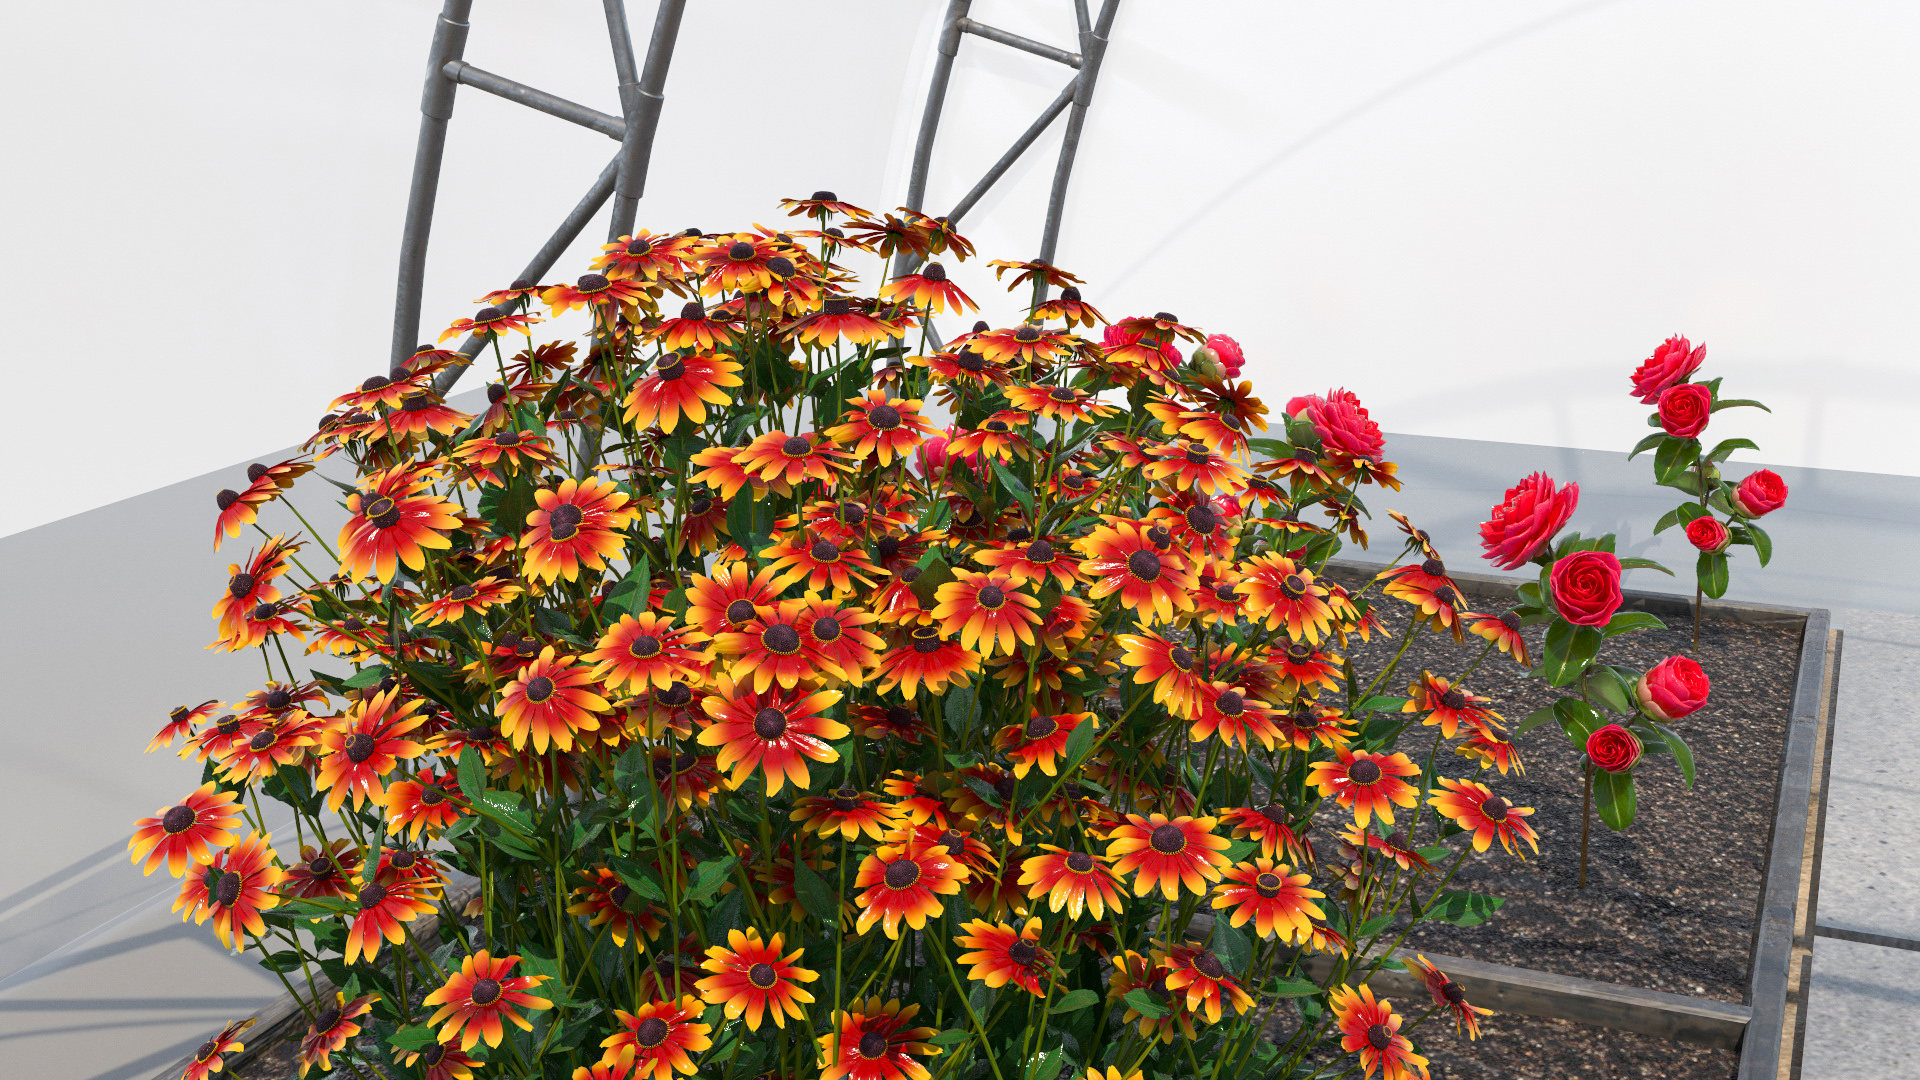
[[(1513, 605), (1469, 600), (1480, 611)], [(1405, 626), (1394, 619), (1396, 607), (1404, 611), (1386, 605), (1388, 636), (1352, 650), (1357, 671), (1377, 673), (1392, 657)], [(1611, 638), (1601, 661), (1644, 671), (1688, 653), (1692, 621), (1667, 617), (1667, 623), (1670, 630)], [(1526, 628), (1536, 657), (1542, 636), (1542, 626)], [(1405, 694), (1423, 669), (1453, 678), (1478, 651), (1480, 640), (1473, 636), (1455, 646), (1423, 634), (1394, 686), (1382, 692)], [(1407, 947), (1692, 997), (1745, 999), (1799, 630), (1707, 621), (1692, 655), (1713, 680), (1709, 705), (1674, 723), (1699, 767), (1693, 790), (1686, 790), (1670, 755), (1645, 755), (1636, 769), (1634, 824), (1613, 832), (1594, 817), (1582, 890), (1576, 888), (1582, 753), (1551, 721), (1517, 736), (1526, 773), (1490, 773), (1482, 782), (1517, 805), (1534, 807), (1528, 822), (1540, 832), (1540, 855), (1521, 861), (1496, 844), (1488, 857), (1469, 857), (1450, 888), (1500, 896), (1505, 905), (1480, 926), (1421, 926)], [(1565, 696), (1526, 678), (1498, 651), (1475, 669), (1467, 690), (1492, 698), (1509, 728)], [(1430, 738), (1411, 732), (1402, 740), (1415, 761), (1425, 761), (1430, 746)], [(1446, 761), (1442, 774), (1465, 778), (1475, 771), (1446, 749), (1440, 761)], [(1432, 832), (1417, 840), (1430, 844)], [(1488, 1034), (1469, 1049), (1450, 1024), (1438, 1028), (1440, 1020), (1421, 1030), (1436, 1078), (1730, 1076), (1738, 1061), (1732, 1051), (1532, 1017), (1492, 1017)]]

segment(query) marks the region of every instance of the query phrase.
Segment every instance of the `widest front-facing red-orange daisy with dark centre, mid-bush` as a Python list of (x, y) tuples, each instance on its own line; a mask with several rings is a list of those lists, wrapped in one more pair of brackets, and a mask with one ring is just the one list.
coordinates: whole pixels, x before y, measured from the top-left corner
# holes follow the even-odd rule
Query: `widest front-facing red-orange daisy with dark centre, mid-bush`
[(720, 675), (716, 692), (701, 701), (712, 724), (701, 732), (701, 746), (718, 746), (714, 765), (726, 769), (728, 786), (739, 788), (760, 771), (766, 794), (774, 796), (791, 780), (808, 788), (812, 776), (806, 759), (839, 761), (839, 751), (828, 746), (847, 738), (847, 724), (826, 715), (841, 694), (837, 690), (755, 690)]

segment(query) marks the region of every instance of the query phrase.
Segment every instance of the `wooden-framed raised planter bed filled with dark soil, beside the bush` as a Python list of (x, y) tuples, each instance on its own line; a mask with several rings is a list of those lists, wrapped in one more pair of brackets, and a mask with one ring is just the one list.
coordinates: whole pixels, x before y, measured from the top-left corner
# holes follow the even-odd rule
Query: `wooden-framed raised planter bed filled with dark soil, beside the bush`
[[(1332, 575), (1352, 584), (1379, 569), (1336, 563)], [(1513, 603), (1513, 580), (1453, 578), (1476, 609)], [(1686, 651), (1684, 598), (1628, 592), (1626, 605), (1674, 628), (1617, 638), (1609, 657), (1647, 667)], [(1538, 650), (1538, 630), (1530, 644)], [(1382, 663), (1373, 655), (1382, 646), (1394, 648), (1377, 638), (1354, 650), (1359, 665)], [(1421, 667), (1453, 676), (1461, 655), (1448, 644), (1425, 651), (1428, 661), (1415, 646), (1400, 682)], [(1405, 951), (1425, 953), (1498, 1013), (1576, 1024), (1496, 1017), (1471, 1049), (1428, 1026), (1434, 1076), (1565, 1076), (1601, 1063), (1619, 1076), (1797, 1074), (1839, 632), (1824, 609), (1709, 603), (1695, 659), (1715, 700), (1676, 726), (1695, 749), (1699, 782), (1688, 792), (1670, 759), (1649, 759), (1636, 824), (1615, 834), (1594, 822), (1586, 890), (1574, 888), (1578, 753), (1551, 724), (1519, 738), (1526, 774), (1496, 784), (1536, 807), (1542, 853), (1465, 869), (1457, 888), (1507, 897), (1505, 907), (1480, 928), (1423, 926)], [(1501, 657), (1469, 686), (1509, 723), (1559, 696)], [(1409, 1001), (1425, 994), (1400, 980), (1380, 990)]]

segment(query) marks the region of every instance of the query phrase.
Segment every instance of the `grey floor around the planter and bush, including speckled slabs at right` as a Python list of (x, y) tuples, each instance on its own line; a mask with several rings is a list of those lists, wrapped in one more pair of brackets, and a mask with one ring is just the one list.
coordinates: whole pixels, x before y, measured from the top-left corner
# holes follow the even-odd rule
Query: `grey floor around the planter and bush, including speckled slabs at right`
[[(1476, 525), (1503, 488), (1546, 469), (1580, 482), (1576, 528), (1617, 530), (1622, 553), (1682, 573), (1668, 584), (1634, 571), (1630, 586), (1682, 592), (1688, 580), (1692, 550), (1678, 532), (1649, 536), (1678, 500), (1651, 484), (1645, 459), (1421, 436), (1388, 436), (1388, 452), (1407, 490), (1369, 500), (1379, 557), (1396, 536), (1384, 511), (1402, 509), (1457, 567), (1484, 571)], [(225, 563), (248, 552), (246, 538), (225, 557), (207, 548), (213, 492), (236, 486), (242, 469), (0, 538), (12, 749), (0, 757), (0, 788), (13, 838), (0, 861), (0, 1074), (148, 1080), (280, 990), (205, 926), (182, 926), (167, 911), (173, 878), (142, 878), (125, 853), (132, 819), (198, 778), (171, 755), (142, 755), (167, 711), (259, 678), (257, 657), (202, 650)], [(1847, 630), (1820, 913), (1920, 936), (1920, 853), (1910, 844), (1920, 834), (1920, 582), (1878, 573), (1914, 550), (1920, 479), (1778, 473), (1791, 498), (1766, 521), (1774, 565), (1761, 571), (1741, 550), (1728, 598), (1830, 607)], [(317, 492), (301, 509), (326, 528)], [(267, 528), (298, 528), (280, 513), (269, 509)], [(276, 842), (282, 853), (292, 847), (290, 836)], [(1820, 940), (1805, 1076), (1920, 1074), (1916, 1017), (1920, 953)]]

